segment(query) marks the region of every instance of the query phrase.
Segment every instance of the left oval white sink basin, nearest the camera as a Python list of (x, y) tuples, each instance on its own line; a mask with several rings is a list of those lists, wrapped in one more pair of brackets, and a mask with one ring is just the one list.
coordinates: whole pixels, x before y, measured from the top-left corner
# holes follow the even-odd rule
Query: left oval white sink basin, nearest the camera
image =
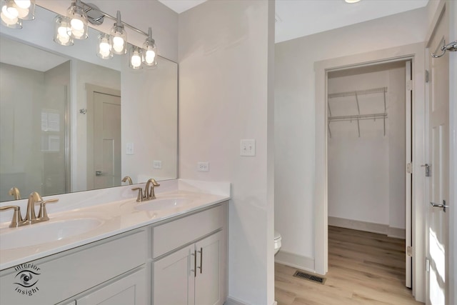
[(96, 229), (101, 224), (102, 221), (99, 219), (69, 219), (6, 229), (6, 232), (0, 234), (0, 249), (7, 250), (59, 241)]

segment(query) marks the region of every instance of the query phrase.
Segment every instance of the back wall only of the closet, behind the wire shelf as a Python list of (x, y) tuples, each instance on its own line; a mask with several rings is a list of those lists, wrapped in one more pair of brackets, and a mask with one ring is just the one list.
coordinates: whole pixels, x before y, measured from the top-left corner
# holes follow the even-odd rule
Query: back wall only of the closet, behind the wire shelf
[[(328, 79), (329, 94), (384, 86), (388, 86), (386, 71)], [(358, 114), (355, 96), (331, 98), (328, 104), (332, 116)], [(384, 112), (382, 93), (358, 96), (358, 104), (361, 114)], [(328, 216), (388, 224), (389, 146), (383, 119), (360, 121), (360, 137), (357, 121), (331, 122), (330, 129)]]

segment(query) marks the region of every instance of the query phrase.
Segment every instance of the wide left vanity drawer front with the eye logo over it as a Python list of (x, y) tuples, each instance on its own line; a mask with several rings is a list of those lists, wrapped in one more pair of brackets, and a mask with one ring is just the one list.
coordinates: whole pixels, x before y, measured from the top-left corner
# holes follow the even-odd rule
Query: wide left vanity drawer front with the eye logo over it
[(0, 277), (0, 304), (49, 305), (69, 299), (144, 264), (146, 241), (142, 230), (26, 263), (36, 272), (33, 280), (39, 280), (29, 288), (15, 284), (22, 265), (6, 269)]

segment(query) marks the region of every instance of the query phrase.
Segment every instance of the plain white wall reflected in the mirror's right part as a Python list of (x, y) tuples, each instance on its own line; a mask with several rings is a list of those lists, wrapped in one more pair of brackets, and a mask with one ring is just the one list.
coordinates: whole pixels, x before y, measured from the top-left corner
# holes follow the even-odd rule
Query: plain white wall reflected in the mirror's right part
[[(134, 184), (151, 177), (176, 179), (178, 65), (159, 58), (156, 69), (134, 71), (125, 64), (122, 96), (122, 176), (131, 176)], [(134, 154), (126, 154), (127, 143), (134, 144)], [(161, 161), (161, 169), (154, 169), (154, 160)]]

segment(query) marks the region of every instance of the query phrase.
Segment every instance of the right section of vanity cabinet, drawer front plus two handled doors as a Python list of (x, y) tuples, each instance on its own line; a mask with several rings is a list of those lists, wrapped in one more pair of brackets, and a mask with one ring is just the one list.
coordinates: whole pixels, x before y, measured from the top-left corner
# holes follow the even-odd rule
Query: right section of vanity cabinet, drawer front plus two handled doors
[[(153, 228), (153, 305), (222, 305), (226, 300), (226, 205)], [(174, 233), (172, 233), (174, 232)], [(181, 233), (179, 233), (181, 232)], [(176, 238), (181, 239), (175, 244)], [(185, 237), (183, 237), (185, 236)], [(184, 239), (183, 239), (184, 238)], [(176, 245), (177, 245), (176, 244)], [(164, 253), (166, 251), (166, 253)]]

